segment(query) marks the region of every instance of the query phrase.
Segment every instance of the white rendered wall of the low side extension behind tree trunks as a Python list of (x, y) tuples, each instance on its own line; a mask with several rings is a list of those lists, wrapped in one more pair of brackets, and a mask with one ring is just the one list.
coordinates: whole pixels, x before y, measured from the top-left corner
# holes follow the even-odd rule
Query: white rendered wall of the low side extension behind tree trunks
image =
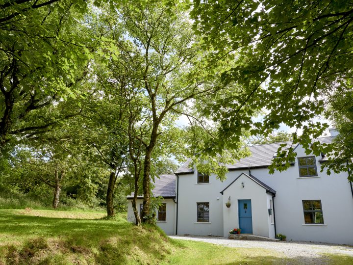
[[(137, 210), (140, 213), (140, 204), (143, 203), (142, 199), (137, 200)], [(162, 203), (167, 204), (166, 221), (157, 221), (157, 225), (167, 234), (175, 235), (175, 221), (176, 221), (176, 203), (173, 199), (165, 199)], [(127, 205), (127, 221), (135, 223), (135, 215), (132, 211), (131, 200), (128, 200)]]

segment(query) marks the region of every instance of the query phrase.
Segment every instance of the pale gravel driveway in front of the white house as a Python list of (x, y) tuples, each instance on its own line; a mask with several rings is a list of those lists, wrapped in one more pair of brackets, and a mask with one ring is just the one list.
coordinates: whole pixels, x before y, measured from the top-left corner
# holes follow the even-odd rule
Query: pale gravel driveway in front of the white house
[(217, 245), (228, 247), (241, 247), (241, 248), (265, 248), (276, 251), (285, 257), (295, 258), (299, 264), (326, 264), (325, 256), (323, 253), (340, 254), (353, 256), (353, 247), (346, 245), (334, 245), (318, 242), (300, 242), (300, 241), (256, 241), (256, 240), (234, 240), (222, 237), (201, 237), (201, 236), (171, 236), (175, 239), (194, 240), (208, 242)]

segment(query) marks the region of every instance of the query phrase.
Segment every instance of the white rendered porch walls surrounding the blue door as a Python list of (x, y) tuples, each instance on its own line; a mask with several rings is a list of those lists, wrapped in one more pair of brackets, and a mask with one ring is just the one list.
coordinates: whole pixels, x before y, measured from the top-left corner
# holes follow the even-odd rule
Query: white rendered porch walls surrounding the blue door
[[(242, 187), (242, 183), (244, 184), (244, 187)], [(231, 206), (227, 208), (226, 202), (229, 196)], [(239, 228), (238, 200), (251, 200), (252, 234), (269, 237), (270, 221), (268, 204), (270, 199), (268, 198), (266, 190), (262, 186), (258, 185), (245, 175), (241, 175), (240, 178), (230, 185), (223, 193), (224, 236), (228, 236), (230, 229)]]

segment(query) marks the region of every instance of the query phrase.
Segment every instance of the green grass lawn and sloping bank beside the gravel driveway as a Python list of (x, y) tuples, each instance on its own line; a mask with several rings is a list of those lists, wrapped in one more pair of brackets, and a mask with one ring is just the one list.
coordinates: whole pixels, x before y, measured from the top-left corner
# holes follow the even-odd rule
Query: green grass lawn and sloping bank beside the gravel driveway
[[(0, 210), (2, 264), (299, 264), (264, 249), (173, 240), (153, 226), (135, 227), (124, 214)], [(328, 264), (353, 264), (327, 256)]]

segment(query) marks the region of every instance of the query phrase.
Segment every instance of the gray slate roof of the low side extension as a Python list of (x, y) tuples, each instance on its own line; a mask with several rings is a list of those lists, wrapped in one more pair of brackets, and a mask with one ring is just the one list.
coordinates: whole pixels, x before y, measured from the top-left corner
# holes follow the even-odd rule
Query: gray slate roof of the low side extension
[[(152, 194), (154, 197), (163, 198), (175, 198), (176, 197), (176, 175), (175, 174), (165, 174), (159, 175), (159, 178), (154, 180), (154, 188)], [(127, 199), (132, 199), (134, 193), (126, 196)], [(137, 198), (142, 198), (143, 196), (137, 196)]]

